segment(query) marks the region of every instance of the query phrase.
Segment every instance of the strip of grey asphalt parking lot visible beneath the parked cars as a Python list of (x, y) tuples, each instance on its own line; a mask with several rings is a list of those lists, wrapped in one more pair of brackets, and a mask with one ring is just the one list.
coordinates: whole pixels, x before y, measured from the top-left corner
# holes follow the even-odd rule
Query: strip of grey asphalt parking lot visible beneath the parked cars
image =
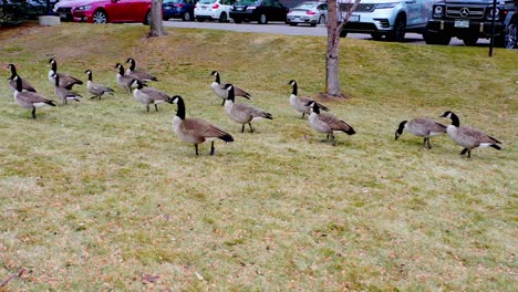
[[(236, 24), (232, 22), (196, 22), (196, 21), (182, 21), (168, 20), (164, 21), (164, 27), (168, 28), (184, 28), (184, 29), (210, 29), (210, 30), (227, 30), (237, 32), (256, 32), (256, 33), (279, 33), (287, 35), (312, 35), (312, 36), (327, 36), (328, 32), (325, 25), (317, 25), (315, 28), (309, 25), (290, 27), (283, 22), (270, 22), (268, 24), (257, 24), (257, 22)], [(351, 33), (348, 38), (359, 40), (372, 40), (370, 34)], [(423, 36), (417, 33), (406, 33), (405, 43), (425, 44)], [(452, 39), (449, 45), (462, 46), (463, 42), (458, 39)], [(488, 46), (489, 40), (480, 39), (479, 46)]]

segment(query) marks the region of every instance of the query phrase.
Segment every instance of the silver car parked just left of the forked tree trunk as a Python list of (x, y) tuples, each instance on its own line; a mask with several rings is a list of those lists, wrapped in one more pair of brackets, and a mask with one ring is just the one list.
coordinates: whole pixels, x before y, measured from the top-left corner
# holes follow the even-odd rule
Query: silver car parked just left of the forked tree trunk
[(328, 3), (325, 2), (302, 2), (288, 11), (286, 22), (292, 27), (308, 23), (311, 27), (325, 23), (328, 20)]

